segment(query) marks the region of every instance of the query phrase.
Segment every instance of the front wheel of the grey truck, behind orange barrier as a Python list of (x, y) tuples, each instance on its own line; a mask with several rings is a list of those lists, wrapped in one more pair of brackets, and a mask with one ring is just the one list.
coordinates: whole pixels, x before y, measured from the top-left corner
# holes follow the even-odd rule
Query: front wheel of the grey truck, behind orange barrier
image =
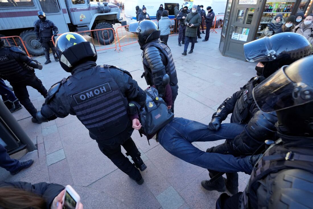
[[(112, 28), (113, 26), (109, 23), (98, 23), (95, 27), (96, 29), (104, 29), (104, 28)], [(99, 37), (99, 43), (102, 45), (108, 45), (114, 42), (114, 37), (115, 37), (115, 31), (113, 30), (98, 30), (94, 31), (94, 38), (98, 40)]]

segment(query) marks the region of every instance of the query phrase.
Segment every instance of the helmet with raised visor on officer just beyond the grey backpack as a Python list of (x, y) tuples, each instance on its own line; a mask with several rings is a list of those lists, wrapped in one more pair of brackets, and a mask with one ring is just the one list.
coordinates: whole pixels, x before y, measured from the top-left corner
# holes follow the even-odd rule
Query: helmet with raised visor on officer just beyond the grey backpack
[(140, 46), (160, 38), (161, 33), (156, 23), (151, 20), (142, 20), (129, 24), (129, 32), (138, 35), (138, 43)]

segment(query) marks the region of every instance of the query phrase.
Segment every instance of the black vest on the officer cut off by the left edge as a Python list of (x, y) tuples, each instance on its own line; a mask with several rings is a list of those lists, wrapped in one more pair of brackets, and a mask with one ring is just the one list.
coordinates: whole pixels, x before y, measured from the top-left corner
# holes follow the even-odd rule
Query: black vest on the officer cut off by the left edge
[(0, 48), (0, 74), (9, 82), (15, 82), (27, 74), (31, 68), (26, 63), (19, 63), (12, 55), (11, 47)]

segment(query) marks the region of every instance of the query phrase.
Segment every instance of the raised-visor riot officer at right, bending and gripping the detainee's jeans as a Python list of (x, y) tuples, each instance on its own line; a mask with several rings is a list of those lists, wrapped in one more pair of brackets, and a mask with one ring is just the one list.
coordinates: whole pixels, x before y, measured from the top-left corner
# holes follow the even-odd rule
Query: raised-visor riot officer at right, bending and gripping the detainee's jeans
[[(253, 97), (252, 90), (264, 78), (274, 73), (286, 64), (310, 55), (310, 43), (303, 36), (295, 33), (278, 33), (271, 37), (264, 37), (244, 44), (244, 55), (249, 62), (259, 62), (255, 67), (257, 77), (249, 80), (238, 92), (218, 107), (208, 125), (211, 130), (218, 130), (221, 122), (232, 113), (230, 122), (247, 124), (244, 131), (233, 140), (209, 148), (207, 152), (231, 154), (234, 156), (252, 155), (255, 151), (263, 150), (265, 140), (275, 140), (275, 113), (259, 111)], [(257, 151), (258, 152), (258, 151)], [(210, 171), (211, 178), (217, 172)], [(211, 183), (202, 181), (201, 185), (207, 190), (225, 191), (232, 194), (238, 192), (238, 174), (227, 173), (227, 181), (223, 177)]]

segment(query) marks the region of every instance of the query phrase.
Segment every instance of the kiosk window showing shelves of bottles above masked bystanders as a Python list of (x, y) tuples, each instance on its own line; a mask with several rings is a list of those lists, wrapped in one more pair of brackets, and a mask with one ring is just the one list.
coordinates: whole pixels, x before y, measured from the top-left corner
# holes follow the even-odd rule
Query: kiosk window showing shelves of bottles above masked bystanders
[(265, 7), (263, 9), (261, 22), (259, 24), (259, 29), (255, 36), (255, 39), (262, 38), (265, 36), (264, 30), (267, 25), (273, 20), (273, 18), (277, 14), (281, 14), (283, 16), (284, 23), (286, 22), (287, 18), (290, 16), (292, 10), (295, 6), (294, 1), (270, 1), (267, 0), (265, 3)]

